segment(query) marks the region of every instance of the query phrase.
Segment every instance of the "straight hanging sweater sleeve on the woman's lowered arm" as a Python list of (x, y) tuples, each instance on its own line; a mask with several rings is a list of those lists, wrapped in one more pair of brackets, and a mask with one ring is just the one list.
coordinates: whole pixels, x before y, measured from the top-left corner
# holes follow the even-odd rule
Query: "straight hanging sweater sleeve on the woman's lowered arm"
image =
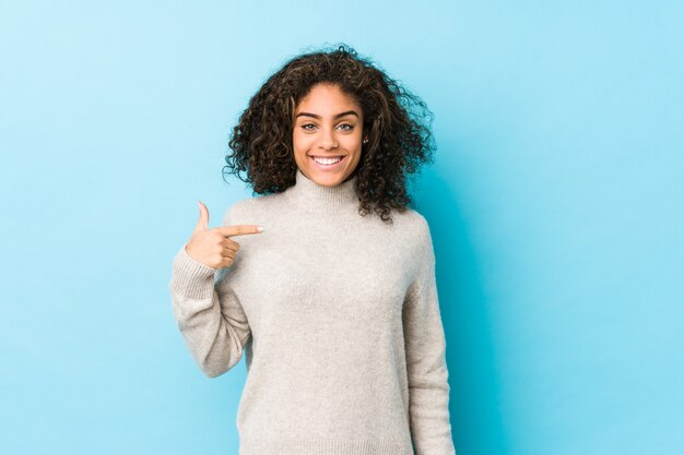
[(455, 455), (435, 253), (429, 227), (424, 218), (423, 221), (420, 272), (410, 287), (402, 312), (411, 436), (415, 455)]

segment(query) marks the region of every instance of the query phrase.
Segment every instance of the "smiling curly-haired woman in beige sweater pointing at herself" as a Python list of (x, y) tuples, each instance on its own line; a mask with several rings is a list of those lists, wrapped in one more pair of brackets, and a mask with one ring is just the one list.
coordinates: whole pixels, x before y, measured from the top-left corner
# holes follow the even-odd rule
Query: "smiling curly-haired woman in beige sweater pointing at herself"
[(207, 375), (246, 354), (240, 455), (455, 454), (433, 243), (405, 188), (428, 115), (344, 46), (293, 58), (243, 112), (227, 168), (259, 195), (212, 229), (200, 204), (169, 284)]

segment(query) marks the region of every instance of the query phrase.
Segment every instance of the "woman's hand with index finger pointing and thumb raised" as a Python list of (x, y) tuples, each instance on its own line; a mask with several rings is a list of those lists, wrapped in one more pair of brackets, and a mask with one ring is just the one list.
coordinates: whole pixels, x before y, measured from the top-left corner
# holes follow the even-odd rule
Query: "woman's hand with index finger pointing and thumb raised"
[(233, 236), (261, 234), (263, 227), (258, 225), (221, 226), (209, 229), (209, 209), (199, 202), (200, 219), (192, 231), (192, 237), (185, 246), (190, 258), (212, 268), (225, 268), (233, 265), (235, 254), (240, 246)]

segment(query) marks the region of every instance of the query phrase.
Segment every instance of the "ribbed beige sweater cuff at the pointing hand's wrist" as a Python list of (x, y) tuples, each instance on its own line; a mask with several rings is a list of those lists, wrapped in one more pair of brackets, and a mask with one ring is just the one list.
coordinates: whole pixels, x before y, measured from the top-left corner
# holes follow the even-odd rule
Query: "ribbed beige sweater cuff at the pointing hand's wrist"
[(176, 256), (172, 267), (170, 289), (184, 297), (192, 299), (205, 299), (214, 291), (214, 273), (217, 268), (210, 267), (192, 259), (184, 244)]

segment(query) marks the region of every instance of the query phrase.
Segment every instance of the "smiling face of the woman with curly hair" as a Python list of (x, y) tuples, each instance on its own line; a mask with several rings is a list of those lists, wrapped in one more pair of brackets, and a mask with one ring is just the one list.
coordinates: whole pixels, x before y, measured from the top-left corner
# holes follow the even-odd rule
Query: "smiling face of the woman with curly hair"
[(334, 187), (361, 159), (363, 112), (339, 86), (317, 84), (295, 109), (292, 132), (297, 167), (309, 180)]

